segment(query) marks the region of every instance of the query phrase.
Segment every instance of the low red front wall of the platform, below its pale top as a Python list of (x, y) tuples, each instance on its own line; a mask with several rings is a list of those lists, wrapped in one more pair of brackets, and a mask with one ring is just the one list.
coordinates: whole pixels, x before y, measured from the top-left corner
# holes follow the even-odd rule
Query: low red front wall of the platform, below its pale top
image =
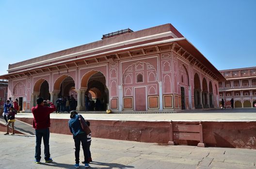
[[(32, 124), (32, 118), (17, 118)], [(169, 122), (90, 120), (92, 136), (105, 139), (167, 143)], [(173, 124), (198, 122), (173, 122)], [(256, 149), (256, 122), (202, 122), (207, 146)], [(52, 133), (70, 134), (68, 119), (51, 119)], [(176, 141), (197, 145), (197, 141)]]

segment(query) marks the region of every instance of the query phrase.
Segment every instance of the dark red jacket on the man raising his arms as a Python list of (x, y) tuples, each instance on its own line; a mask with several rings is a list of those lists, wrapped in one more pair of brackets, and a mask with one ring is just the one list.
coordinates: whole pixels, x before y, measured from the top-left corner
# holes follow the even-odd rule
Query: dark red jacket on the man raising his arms
[(36, 105), (32, 107), (31, 111), (34, 116), (33, 128), (44, 129), (50, 127), (50, 113), (54, 112), (56, 107), (52, 102), (50, 102), (50, 107)]

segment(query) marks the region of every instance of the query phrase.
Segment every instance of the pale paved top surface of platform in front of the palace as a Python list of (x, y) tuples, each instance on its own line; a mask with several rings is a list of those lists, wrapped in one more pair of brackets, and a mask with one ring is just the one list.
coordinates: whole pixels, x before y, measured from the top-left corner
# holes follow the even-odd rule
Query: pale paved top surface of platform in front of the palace
[[(140, 114), (120, 114), (104, 113), (92, 114), (82, 113), (88, 120), (120, 120), (120, 121), (256, 121), (256, 109), (226, 109), (226, 110), (186, 110), (182, 113), (140, 113)], [(32, 113), (18, 113), (16, 117), (33, 117)], [(50, 118), (69, 119), (69, 113), (51, 113)]]

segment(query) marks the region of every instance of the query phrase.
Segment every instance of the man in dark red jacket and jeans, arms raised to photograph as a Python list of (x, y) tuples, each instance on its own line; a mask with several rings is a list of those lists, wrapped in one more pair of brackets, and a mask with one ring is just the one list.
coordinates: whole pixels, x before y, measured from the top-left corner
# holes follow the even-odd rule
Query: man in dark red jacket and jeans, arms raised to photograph
[(49, 137), (50, 137), (50, 113), (54, 112), (56, 110), (56, 107), (54, 104), (50, 101), (48, 103), (50, 104), (50, 107), (44, 105), (44, 99), (43, 98), (37, 98), (36, 99), (37, 105), (35, 107), (32, 107), (31, 111), (34, 116), (33, 120), (33, 128), (35, 128), (35, 163), (39, 164), (41, 160), (41, 142), (42, 137), (44, 139), (44, 146), (45, 146), (45, 160), (46, 163), (49, 163), (52, 161), (50, 157), (50, 151), (49, 151)]

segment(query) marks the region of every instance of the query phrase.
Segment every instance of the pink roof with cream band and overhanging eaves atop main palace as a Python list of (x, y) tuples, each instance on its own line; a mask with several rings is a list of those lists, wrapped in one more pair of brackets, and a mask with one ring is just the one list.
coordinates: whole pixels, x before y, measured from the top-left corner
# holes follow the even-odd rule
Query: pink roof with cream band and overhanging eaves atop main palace
[(189, 53), (197, 58), (209, 70), (211, 70), (221, 81), (225, 81), (224, 76), (217, 70), (208, 59), (196, 49), (191, 42), (178, 32), (171, 24), (164, 24), (152, 28), (146, 28), (139, 31), (129, 32), (118, 36), (105, 38), (100, 41), (76, 46), (62, 51), (54, 52), (48, 55), (34, 57), (9, 65), (8, 74), (0, 77), (5, 77), (11, 74), (37, 69), (40, 67), (51, 66), (53, 63), (65, 63), (70, 60), (79, 60), (84, 58), (93, 58), (100, 54), (108, 52), (118, 52), (128, 50), (134, 47), (143, 47), (146, 45), (164, 44), (168, 42), (176, 42)]

